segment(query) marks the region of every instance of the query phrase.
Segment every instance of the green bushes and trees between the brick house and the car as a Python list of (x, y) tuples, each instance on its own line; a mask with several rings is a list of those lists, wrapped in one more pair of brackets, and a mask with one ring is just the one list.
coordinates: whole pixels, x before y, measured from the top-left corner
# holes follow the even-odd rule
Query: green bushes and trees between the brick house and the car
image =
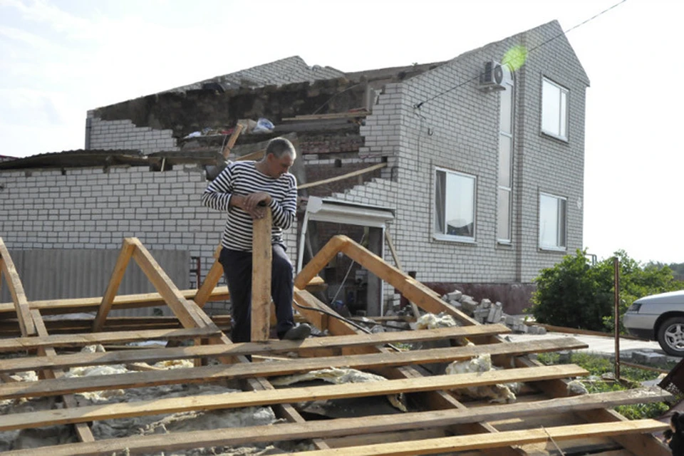
[[(641, 266), (619, 250), (620, 315), (638, 298), (683, 289), (668, 266)], [(533, 314), (539, 323), (594, 331), (613, 331), (613, 258), (591, 265), (586, 251), (577, 250), (555, 266), (542, 269), (532, 295)]]

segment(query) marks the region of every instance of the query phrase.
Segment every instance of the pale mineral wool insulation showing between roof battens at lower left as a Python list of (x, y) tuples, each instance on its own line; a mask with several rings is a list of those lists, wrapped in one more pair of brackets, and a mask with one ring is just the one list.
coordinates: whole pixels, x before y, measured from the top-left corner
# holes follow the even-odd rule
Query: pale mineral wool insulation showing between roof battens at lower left
[[(95, 346), (84, 348), (84, 351), (102, 350)], [(177, 369), (192, 368), (192, 361), (162, 361), (153, 365), (155, 368)], [(127, 373), (123, 365), (91, 366), (87, 368), (72, 368), (65, 375), (67, 377), (85, 377), (88, 375), (107, 375), (113, 373)], [(15, 380), (36, 381), (35, 372), (13, 375)], [(95, 391), (74, 395), (78, 405), (102, 405), (106, 403), (133, 403), (138, 400), (154, 400), (157, 398), (182, 398), (190, 395), (230, 394), (239, 390), (221, 385), (161, 385), (148, 388), (132, 388), (127, 390)], [(0, 415), (11, 413), (34, 412), (63, 408), (55, 398), (34, 398), (31, 400), (0, 401)], [(0, 418), (1, 420), (1, 418)], [(129, 437), (133, 435), (164, 434), (167, 432), (184, 432), (190, 430), (210, 430), (222, 427), (246, 427), (279, 423), (270, 407), (249, 407), (242, 409), (211, 410), (207, 412), (174, 413), (172, 415), (142, 416), (134, 418), (119, 418), (103, 420), (93, 423), (91, 430), (95, 440), (115, 437)], [(55, 425), (36, 429), (14, 430), (0, 432), (0, 452), (37, 448), (46, 445), (78, 442), (71, 425)], [(310, 442), (299, 445), (279, 442), (274, 445), (250, 445), (244, 447), (215, 447), (199, 448), (195, 450), (178, 450), (173, 452), (146, 453), (155, 456), (170, 455), (265, 455), (278, 452), (304, 451), (313, 447)], [(125, 452), (114, 455), (125, 455)]]

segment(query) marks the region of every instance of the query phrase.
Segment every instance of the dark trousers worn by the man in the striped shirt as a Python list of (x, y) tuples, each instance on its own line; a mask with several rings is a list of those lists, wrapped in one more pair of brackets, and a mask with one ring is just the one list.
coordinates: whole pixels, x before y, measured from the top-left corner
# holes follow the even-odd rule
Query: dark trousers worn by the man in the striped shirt
[[(228, 282), (230, 302), (233, 307), (231, 339), (233, 342), (249, 342), (252, 337), (252, 252), (221, 249), (219, 262)], [(276, 331), (282, 337), (294, 326), (292, 295), (293, 267), (279, 244), (273, 245), (271, 264), (271, 298), (276, 305), (278, 324)]]

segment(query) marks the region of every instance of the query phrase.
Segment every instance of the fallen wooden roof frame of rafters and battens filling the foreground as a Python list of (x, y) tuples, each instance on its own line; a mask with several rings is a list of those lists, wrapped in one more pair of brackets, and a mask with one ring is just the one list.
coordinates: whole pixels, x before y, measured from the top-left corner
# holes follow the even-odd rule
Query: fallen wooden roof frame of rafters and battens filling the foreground
[[(325, 266), (332, 257), (338, 252), (346, 254), (354, 261), (366, 267), (373, 274), (387, 281), (389, 284), (399, 289), (410, 301), (420, 309), (432, 313), (445, 312), (453, 316), (462, 325), (459, 328), (449, 328), (442, 330), (425, 331), (419, 334), (418, 338), (442, 337), (457, 339), (468, 337), (476, 341), (475, 347), (460, 347), (433, 349), (432, 351), (415, 351), (408, 353), (398, 353), (393, 348), (385, 348), (383, 345), (388, 341), (395, 340), (397, 335), (365, 335), (358, 333), (358, 330), (343, 319), (334, 318), (334, 312), (325, 304), (318, 301), (306, 286), (314, 279), (316, 274)], [(143, 351), (127, 352), (107, 352), (95, 353), (93, 356), (84, 355), (81, 361), (76, 361), (76, 357), (68, 354), (58, 354), (55, 347), (78, 346), (84, 343), (95, 341), (128, 341), (134, 338), (131, 331), (101, 332), (105, 328), (105, 322), (110, 309), (116, 302), (118, 284), (120, 283), (125, 267), (133, 259), (145, 272), (150, 282), (155, 286), (158, 296), (155, 299), (162, 299), (170, 306), (173, 314), (182, 323), (184, 329), (180, 330), (161, 330), (165, 331), (165, 337), (172, 338), (193, 338), (195, 346), (177, 348), (158, 348), (146, 349)], [(41, 311), (49, 311), (60, 304), (43, 304), (41, 309), (33, 308), (33, 304), (26, 299), (24, 289), (21, 286), (18, 274), (14, 268), (9, 253), (4, 242), (0, 239), (0, 282), (4, 278), (9, 284), (19, 326), (21, 327), (21, 338), (9, 340), (0, 339), (1, 347), (6, 346), (5, 350), (28, 350), (37, 351), (38, 357), (27, 356), (16, 358), (19, 368), (31, 368), (41, 372), (41, 380), (33, 385), (14, 385), (13, 383), (0, 383), (0, 397), (18, 398), (32, 397), (34, 395), (63, 395), (67, 409), (62, 413), (51, 411), (19, 413), (8, 415), (2, 420), (3, 428), (33, 427), (35, 425), (47, 425), (55, 423), (71, 423), (76, 426), (76, 432), (81, 443), (69, 445), (56, 445), (43, 447), (41, 450), (50, 452), (53, 455), (90, 455), (103, 454), (113, 450), (123, 450), (123, 448), (133, 448), (135, 452), (144, 452), (152, 449), (171, 449), (175, 447), (191, 448), (206, 446), (207, 439), (212, 441), (212, 446), (220, 446), (226, 442), (233, 442), (230, 434), (234, 435), (235, 430), (212, 430), (179, 432), (177, 435), (165, 435), (160, 440), (160, 436), (129, 437), (125, 439), (112, 439), (107, 441), (95, 442), (88, 430), (89, 420), (105, 419), (120, 416), (131, 416), (135, 413), (160, 413), (160, 410), (208, 410), (212, 408), (226, 408), (232, 406), (265, 404), (273, 405), (276, 413), (286, 418), (289, 424), (284, 426), (296, 427), (298, 430), (295, 435), (298, 438), (311, 438), (316, 447), (316, 451), (304, 452), (311, 455), (395, 455), (395, 454), (428, 454), (439, 449), (445, 451), (464, 451), (478, 450), (478, 454), (492, 455), (524, 455), (520, 445), (525, 442), (539, 442), (546, 440), (577, 440), (594, 436), (609, 436), (621, 447), (628, 450), (633, 455), (666, 456), (669, 450), (651, 435), (650, 432), (663, 430), (666, 426), (655, 420), (629, 421), (624, 417), (609, 410), (618, 403), (649, 402), (653, 400), (663, 400), (668, 397), (662, 391), (646, 393), (634, 393), (608, 396), (586, 395), (582, 398), (568, 397), (566, 382), (564, 378), (569, 376), (582, 375), (586, 371), (576, 366), (541, 366), (536, 361), (532, 361), (524, 353), (536, 353), (544, 350), (554, 350), (559, 347), (579, 347), (581, 344), (574, 339), (566, 338), (562, 343), (550, 341), (544, 343), (504, 343), (499, 334), (505, 333), (507, 329), (503, 327), (487, 328), (481, 326), (475, 320), (462, 314), (454, 307), (445, 303), (437, 296), (434, 291), (428, 289), (420, 282), (404, 274), (399, 269), (385, 263), (380, 257), (368, 252), (361, 245), (343, 236), (334, 237), (328, 242), (321, 252), (318, 252), (314, 259), (309, 261), (304, 269), (295, 279), (295, 307), (309, 322), (314, 324), (319, 330), (331, 334), (331, 337), (321, 339), (311, 339), (301, 343), (292, 341), (265, 341), (259, 343), (233, 344), (220, 329), (212, 323), (207, 314), (202, 311), (202, 306), (214, 293), (214, 289), (221, 276), (222, 270), (218, 261), (212, 266), (207, 279), (202, 286), (195, 292), (195, 301), (186, 297), (186, 294), (175, 286), (168, 278), (162, 268), (152, 258), (150, 253), (140, 243), (138, 239), (124, 239), (118, 261), (115, 264), (107, 291), (100, 300), (98, 314), (93, 322), (92, 333), (81, 333), (75, 335), (51, 336), (47, 333), (44, 326)], [(128, 298), (121, 296), (123, 301)], [(120, 300), (121, 301), (121, 300)], [(63, 309), (66, 306), (61, 306)], [(324, 310), (323, 314), (317, 310)], [(411, 336), (423, 331), (412, 331)], [(138, 338), (150, 338), (150, 331), (138, 331)], [(482, 345), (484, 344), (484, 345)], [(546, 345), (544, 345), (546, 344)], [(555, 345), (554, 345), (555, 344)], [(156, 350), (156, 351), (155, 351)], [(279, 351), (299, 351), (302, 358), (299, 361), (274, 361), (272, 363), (248, 363), (244, 355), (254, 353), (277, 353)], [(423, 353), (421, 353), (423, 352)], [(441, 375), (425, 377), (413, 367), (413, 365), (425, 363), (427, 361), (445, 361), (451, 359), (462, 359), (476, 356), (477, 353), (490, 353), (493, 359), (499, 363), (506, 361), (515, 368), (507, 368), (503, 371), (492, 373), (462, 374), (462, 375)], [(157, 374), (157, 381), (160, 383), (190, 383), (204, 374), (217, 375), (217, 378), (243, 378), (245, 388), (252, 390), (252, 393), (235, 393), (227, 395), (226, 398), (207, 397), (199, 400), (202, 396), (191, 398), (179, 398), (177, 400), (154, 400), (146, 404), (116, 404), (116, 405), (95, 405), (80, 407), (71, 412), (69, 408), (76, 406), (73, 394), (92, 388), (113, 388), (115, 385), (123, 385), (120, 377), (107, 375), (105, 378), (95, 380), (94, 383), (87, 381), (73, 382), (71, 385), (60, 380), (60, 370), (70, 366), (83, 365), (83, 363), (98, 363), (98, 356), (102, 357), (105, 363), (113, 363), (119, 357), (125, 362), (134, 363), (137, 361), (152, 361), (155, 359), (177, 359), (192, 358), (197, 361), (196, 368), (177, 371), (177, 373), (153, 373)], [(206, 357), (218, 358), (224, 366), (201, 366), (202, 359)], [(333, 356), (334, 358), (321, 358), (321, 356)], [(359, 367), (372, 367), (380, 369), (389, 379), (387, 382), (362, 383), (350, 385), (336, 385), (333, 387), (309, 387), (309, 388), (285, 388), (274, 390), (273, 386), (266, 380), (266, 377), (277, 373), (306, 371), (309, 368), (317, 368), (326, 364), (342, 366), (343, 364)], [(0, 373), (16, 371), (16, 367), (9, 366), (10, 363), (0, 361)], [(300, 365), (299, 368), (296, 365)], [(140, 375), (139, 375), (140, 374)], [(137, 375), (130, 378), (125, 387), (142, 386), (150, 383), (154, 375), (147, 373), (135, 373)], [(187, 374), (187, 375), (184, 375)], [(173, 378), (174, 375), (177, 377)], [(5, 377), (4, 377), (5, 378)], [(496, 427), (489, 424), (491, 415), (478, 415), (478, 409), (468, 408), (455, 398), (450, 389), (463, 388), (464, 385), (502, 383), (510, 380), (524, 380), (529, 385), (551, 398), (546, 403), (537, 401), (531, 404), (511, 404), (501, 405), (500, 412), (507, 416), (526, 415), (526, 411), (534, 410), (534, 413), (543, 415), (558, 410), (559, 407), (566, 407), (572, 410), (576, 416), (586, 421), (586, 424), (572, 424), (559, 427), (548, 427), (544, 430), (525, 429), (516, 431), (499, 432)], [(75, 379), (71, 379), (75, 380)], [(470, 383), (469, 383), (470, 382)], [(475, 383), (473, 383), (475, 382)], [(427, 414), (445, 413), (455, 416), (467, 417), (459, 420), (440, 422), (439, 427), (448, 430), (460, 437), (447, 437), (437, 433), (418, 432), (410, 434), (405, 432), (406, 438), (416, 435), (418, 440), (407, 440), (397, 444), (380, 443), (385, 441), (380, 437), (372, 437), (371, 432), (388, 432), (395, 429), (408, 429), (408, 427), (383, 427), (381, 430), (368, 426), (369, 420), (361, 418), (353, 421), (338, 421), (338, 423), (349, 423), (345, 433), (335, 434), (338, 437), (330, 440), (335, 445), (353, 445), (342, 448), (332, 448), (326, 443), (328, 437), (332, 437), (334, 432), (325, 432), (321, 429), (321, 423), (307, 423), (297, 412), (291, 403), (299, 400), (309, 400), (320, 397), (363, 397), (363, 395), (383, 395), (386, 393), (410, 392), (420, 403), (425, 405)], [(244, 395), (244, 400), (242, 399)], [(199, 400), (199, 402), (198, 402)], [(246, 401), (246, 402), (245, 402)], [(241, 405), (239, 405), (241, 404)], [(581, 405), (580, 405), (581, 404)], [(491, 407), (491, 406), (490, 406)], [(136, 411), (137, 410), (137, 411)], [(432, 410), (432, 411), (430, 411)], [(400, 421), (395, 418), (387, 418), (392, 421)], [(403, 417), (403, 415), (398, 415)], [(427, 416), (427, 415), (425, 415)], [(353, 420), (353, 419), (352, 419)], [(355, 424), (356, 423), (356, 424)], [(404, 423), (407, 423), (404, 420)], [(432, 422), (434, 423), (434, 422)], [(600, 424), (599, 424), (600, 423)], [(280, 432), (280, 426), (274, 426), (276, 432)], [(328, 424), (328, 430), (336, 426)], [(286, 429), (283, 429), (284, 431)], [(244, 431), (248, 435), (249, 430)], [(254, 430), (263, 432), (263, 430)], [(356, 437), (348, 438), (345, 435), (368, 435), (366, 439)], [(211, 437), (209, 437), (211, 436)], [(423, 437), (420, 437), (423, 436)], [(190, 437), (190, 438), (189, 438)], [(427, 437), (427, 438), (425, 438)], [(271, 440), (287, 440), (289, 437), (275, 437), (271, 435)], [(379, 440), (378, 440), (379, 439)], [(422, 440), (421, 440), (422, 439)], [(354, 442), (357, 444), (355, 445)], [(358, 445), (358, 442), (363, 444)], [(169, 445), (175, 445), (170, 447)], [(177, 446), (180, 445), (180, 446)], [(184, 446), (185, 445), (185, 446)], [(27, 450), (17, 450), (8, 452), (8, 455), (26, 455)], [(33, 450), (34, 451), (34, 450)], [(470, 453), (468, 453), (470, 454)]]

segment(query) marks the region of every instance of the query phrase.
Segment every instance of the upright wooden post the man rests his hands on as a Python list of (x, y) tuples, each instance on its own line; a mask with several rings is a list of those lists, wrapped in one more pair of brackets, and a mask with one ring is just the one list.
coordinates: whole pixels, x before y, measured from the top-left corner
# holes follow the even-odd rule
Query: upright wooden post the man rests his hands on
[(271, 333), (271, 209), (252, 229), (252, 341), (268, 341)]

